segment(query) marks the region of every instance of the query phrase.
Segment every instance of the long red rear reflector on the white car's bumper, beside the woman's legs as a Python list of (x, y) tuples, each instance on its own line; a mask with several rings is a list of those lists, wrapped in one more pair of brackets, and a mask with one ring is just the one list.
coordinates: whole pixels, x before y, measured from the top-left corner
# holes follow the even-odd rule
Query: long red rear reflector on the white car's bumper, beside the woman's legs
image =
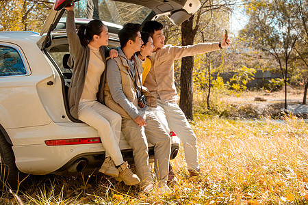
[(85, 144), (85, 143), (101, 143), (101, 138), (78, 138), (78, 139), (53, 139), (45, 140), (47, 146), (63, 146), (63, 145), (74, 145), (74, 144)]

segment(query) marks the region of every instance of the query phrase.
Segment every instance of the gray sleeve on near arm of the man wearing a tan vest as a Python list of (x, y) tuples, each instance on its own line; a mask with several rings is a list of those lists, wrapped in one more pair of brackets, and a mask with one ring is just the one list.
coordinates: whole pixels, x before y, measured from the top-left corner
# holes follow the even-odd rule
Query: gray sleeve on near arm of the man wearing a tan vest
[(106, 78), (114, 102), (127, 111), (131, 118), (137, 118), (140, 113), (137, 107), (133, 105), (133, 102), (127, 99), (122, 90), (120, 69), (114, 59), (107, 60)]

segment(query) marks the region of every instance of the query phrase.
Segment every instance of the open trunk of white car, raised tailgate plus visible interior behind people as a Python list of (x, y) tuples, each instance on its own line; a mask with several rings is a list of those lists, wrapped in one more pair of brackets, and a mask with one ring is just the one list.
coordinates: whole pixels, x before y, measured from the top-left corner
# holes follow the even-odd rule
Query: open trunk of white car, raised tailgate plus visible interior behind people
[[(69, 56), (68, 39), (66, 36), (66, 12), (64, 7), (73, 0), (57, 0), (47, 16), (40, 40), (39, 48), (51, 60), (60, 74), (62, 93), (66, 115), (72, 122), (74, 119), (68, 111), (67, 92), (73, 69), (67, 65)], [(174, 23), (181, 23), (200, 8), (198, 0), (77, 0), (75, 1), (75, 24), (86, 25), (92, 19), (100, 19), (107, 25), (110, 33), (110, 47), (117, 47), (118, 31), (125, 23), (140, 23), (151, 20), (155, 16), (166, 15)]]

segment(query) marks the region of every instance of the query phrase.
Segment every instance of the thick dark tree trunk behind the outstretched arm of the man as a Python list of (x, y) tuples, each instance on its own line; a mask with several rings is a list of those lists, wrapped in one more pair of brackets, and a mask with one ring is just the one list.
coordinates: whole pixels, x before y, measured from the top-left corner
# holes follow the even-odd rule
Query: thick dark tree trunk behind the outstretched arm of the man
[[(194, 43), (194, 31), (192, 27), (194, 16), (185, 20), (181, 24), (182, 46), (191, 45)], [(192, 114), (192, 70), (194, 68), (194, 57), (188, 56), (182, 58), (181, 64), (181, 97), (179, 107), (185, 113), (188, 120), (194, 120)]]

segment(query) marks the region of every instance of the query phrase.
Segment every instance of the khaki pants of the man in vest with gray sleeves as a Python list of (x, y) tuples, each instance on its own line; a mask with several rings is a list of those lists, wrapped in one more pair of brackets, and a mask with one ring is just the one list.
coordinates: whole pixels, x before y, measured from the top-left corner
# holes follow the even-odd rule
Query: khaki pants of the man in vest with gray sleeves
[(139, 112), (144, 117), (146, 126), (140, 127), (133, 120), (123, 118), (122, 133), (133, 148), (137, 175), (143, 187), (149, 182), (153, 182), (147, 141), (154, 145), (156, 178), (159, 182), (166, 182), (169, 172), (171, 139), (151, 109), (145, 108)]

